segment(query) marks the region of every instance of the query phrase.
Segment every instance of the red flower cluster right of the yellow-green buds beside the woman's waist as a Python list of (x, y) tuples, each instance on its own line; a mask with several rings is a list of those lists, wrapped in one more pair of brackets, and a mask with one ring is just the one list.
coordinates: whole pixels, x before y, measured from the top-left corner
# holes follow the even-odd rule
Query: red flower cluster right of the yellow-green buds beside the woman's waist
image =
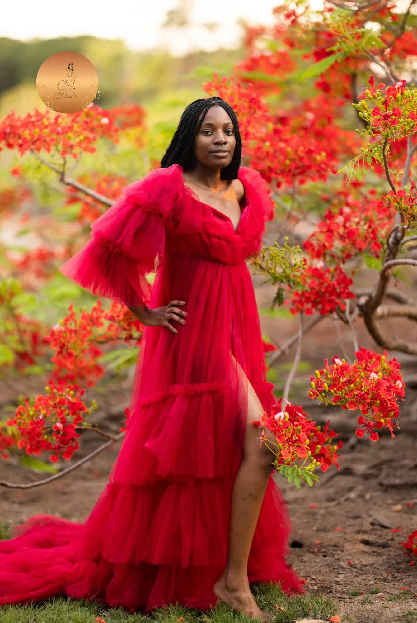
[(344, 299), (355, 298), (351, 292), (352, 279), (339, 267), (324, 267), (323, 262), (316, 266), (306, 265), (301, 274), (300, 284), (294, 288), (291, 298), (291, 313), (304, 311), (311, 315), (315, 310), (320, 314), (334, 312), (336, 305), (344, 310)]

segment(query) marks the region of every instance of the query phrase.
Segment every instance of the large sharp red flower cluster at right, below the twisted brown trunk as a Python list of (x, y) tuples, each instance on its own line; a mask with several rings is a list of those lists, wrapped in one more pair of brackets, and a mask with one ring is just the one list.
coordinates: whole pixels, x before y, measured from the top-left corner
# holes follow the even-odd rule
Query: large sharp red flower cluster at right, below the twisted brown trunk
[(405, 383), (400, 374), (400, 364), (383, 355), (360, 348), (357, 360), (352, 365), (334, 357), (329, 366), (325, 359), (322, 370), (311, 376), (309, 396), (318, 398), (325, 404), (337, 404), (342, 409), (357, 411), (359, 427), (356, 435), (363, 437), (365, 432), (370, 439), (377, 440), (377, 429), (386, 427), (394, 437), (393, 419), (398, 417), (398, 401), (402, 400)]

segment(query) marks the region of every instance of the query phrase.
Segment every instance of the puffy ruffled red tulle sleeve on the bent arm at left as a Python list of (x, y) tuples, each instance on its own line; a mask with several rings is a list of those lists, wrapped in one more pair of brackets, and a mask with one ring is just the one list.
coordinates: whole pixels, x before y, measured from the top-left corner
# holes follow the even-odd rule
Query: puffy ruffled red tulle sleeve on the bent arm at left
[(91, 239), (60, 272), (89, 292), (125, 305), (145, 305), (146, 275), (164, 257), (166, 222), (179, 193), (172, 168), (152, 169), (129, 184), (115, 204), (91, 224)]

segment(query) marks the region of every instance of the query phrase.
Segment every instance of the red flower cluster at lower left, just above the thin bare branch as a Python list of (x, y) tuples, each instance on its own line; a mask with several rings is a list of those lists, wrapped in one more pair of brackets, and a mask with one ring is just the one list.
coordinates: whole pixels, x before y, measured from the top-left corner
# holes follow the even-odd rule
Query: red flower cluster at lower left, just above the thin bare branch
[(63, 459), (70, 459), (78, 450), (77, 425), (88, 417), (91, 409), (81, 399), (84, 390), (75, 394), (68, 385), (47, 387), (45, 391), (46, 396), (36, 396), (33, 404), (25, 398), (7, 425), (19, 431), (17, 447), (24, 448), (26, 454), (37, 456), (45, 450), (52, 452), (49, 456), (52, 462), (59, 460), (61, 454)]

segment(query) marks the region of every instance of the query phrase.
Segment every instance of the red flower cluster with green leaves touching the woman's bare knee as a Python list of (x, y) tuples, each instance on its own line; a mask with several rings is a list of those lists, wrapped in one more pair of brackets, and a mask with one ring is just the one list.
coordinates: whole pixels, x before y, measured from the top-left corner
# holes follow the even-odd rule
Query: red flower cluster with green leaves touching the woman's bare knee
[[(312, 485), (312, 481), (318, 479), (313, 473), (314, 468), (319, 465), (323, 472), (332, 464), (339, 469), (337, 449), (342, 446), (342, 441), (332, 445), (336, 433), (329, 430), (329, 422), (321, 429), (307, 417), (302, 407), (288, 402), (283, 408), (280, 398), (269, 413), (263, 412), (260, 419), (252, 424), (261, 429), (261, 437), (258, 437), (260, 446), (264, 443), (275, 455), (274, 468), (284, 475), (290, 475), (290, 478), (291, 475), (295, 477), (296, 484), (302, 478)], [(273, 433), (274, 442), (268, 439), (268, 430)]]

